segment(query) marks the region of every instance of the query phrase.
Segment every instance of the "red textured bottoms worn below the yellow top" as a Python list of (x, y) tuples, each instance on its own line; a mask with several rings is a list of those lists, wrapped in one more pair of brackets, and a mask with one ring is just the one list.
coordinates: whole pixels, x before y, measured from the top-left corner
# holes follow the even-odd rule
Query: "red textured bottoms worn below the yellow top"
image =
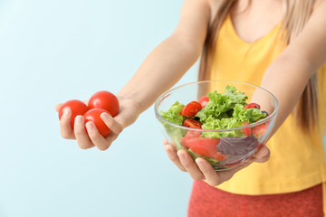
[(188, 217), (322, 217), (322, 184), (295, 192), (267, 195), (227, 193), (195, 181)]

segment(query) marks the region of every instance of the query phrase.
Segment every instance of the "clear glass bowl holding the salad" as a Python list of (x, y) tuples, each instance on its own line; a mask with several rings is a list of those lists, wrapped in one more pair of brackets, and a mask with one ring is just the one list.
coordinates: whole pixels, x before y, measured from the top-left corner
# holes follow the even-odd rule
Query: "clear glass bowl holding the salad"
[[(187, 105), (215, 90), (217, 93), (225, 94), (225, 88), (228, 86), (235, 87), (237, 92), (245, 93), (247, 97), (245, 105), (257, 103), (266, 117), (259, 118), (251, 124), (240, 123), (236, 127), (217, 129), (186, 127), (187, 125), (178, 125), (162, 117), (162, 114), (167, 112), (176, 101)], [(260, 146), (264, 145), (273, 130), (278, 108), (277, 99), (268, 90), (232, 80), (187, 83), (163, 93), (154, 106), (155, 115), (169, 144), (175, 146), (177, 150), (187, 151), (193, 159), (197, 157), (206, 159), (216, 171), (232, 169), (243, 164), (257, 152)], [(227, 113), (230, 118), (232, 112)]]

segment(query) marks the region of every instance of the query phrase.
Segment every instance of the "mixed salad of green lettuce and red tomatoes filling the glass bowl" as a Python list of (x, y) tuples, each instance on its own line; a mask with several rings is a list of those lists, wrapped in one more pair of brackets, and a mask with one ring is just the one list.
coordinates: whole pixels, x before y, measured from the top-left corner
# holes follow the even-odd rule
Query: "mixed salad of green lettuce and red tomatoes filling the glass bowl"
[[(187, 151), (194, 159), (202, 157), (216, 170), (223, 170), (227, 168), (225, 162), (232, 166), (258, 147), (261, 135), (268, 129), (266, 124), (244, 127), (268, 116), (258, 104), (247, 104), (247, 99), (244, 92), (226, 86), (225, 93), (215, 90), (186, 106), (176, 101), (167, 111), (160, 111), (162, 118), (178, 126), (229, 130), (200, 132), (161, 122), (177, 150)], [(230, 130), (237, 127), (242, 128)]]

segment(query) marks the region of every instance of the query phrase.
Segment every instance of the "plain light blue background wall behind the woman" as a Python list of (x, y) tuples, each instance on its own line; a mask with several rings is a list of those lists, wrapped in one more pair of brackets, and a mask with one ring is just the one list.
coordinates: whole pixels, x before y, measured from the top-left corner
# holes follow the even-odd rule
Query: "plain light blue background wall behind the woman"
[(186, 216), (192, 180), (168, 160), (153, 108), (105, 152), (60, 137), (54, 110), (118, 93), (181, 5), (0, 0), (0, 217)]

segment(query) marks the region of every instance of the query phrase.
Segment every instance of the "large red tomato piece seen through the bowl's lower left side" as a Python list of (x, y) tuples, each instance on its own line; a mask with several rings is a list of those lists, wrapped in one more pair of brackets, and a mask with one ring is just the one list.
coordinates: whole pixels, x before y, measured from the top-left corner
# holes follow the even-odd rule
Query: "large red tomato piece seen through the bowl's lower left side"
[(181, 143), (184, 146), (188, 146), (191, 150), (200, 156), (210, 156), (216, 160), (225, 159), (220, 152), (217, 151), (217, 144), (219, 144), (219, 138), (206, 138), (206, 137), (183, 137)]

